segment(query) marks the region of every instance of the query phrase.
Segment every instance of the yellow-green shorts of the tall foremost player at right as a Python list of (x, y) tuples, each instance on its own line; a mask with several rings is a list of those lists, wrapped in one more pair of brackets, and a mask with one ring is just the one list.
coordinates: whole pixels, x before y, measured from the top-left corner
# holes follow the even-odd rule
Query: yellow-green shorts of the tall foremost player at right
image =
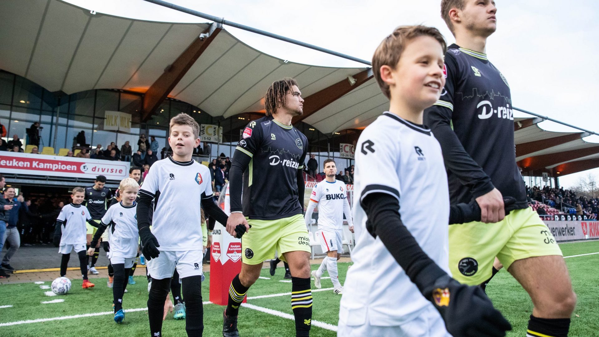
[(449, 226), (449, 269), (463, 284), (491, 277), (495, 257), (506, 270), (523, 258), (562, 255), (547, 225), (531, 207), (512, 210), (494, 224), (473, 221)]

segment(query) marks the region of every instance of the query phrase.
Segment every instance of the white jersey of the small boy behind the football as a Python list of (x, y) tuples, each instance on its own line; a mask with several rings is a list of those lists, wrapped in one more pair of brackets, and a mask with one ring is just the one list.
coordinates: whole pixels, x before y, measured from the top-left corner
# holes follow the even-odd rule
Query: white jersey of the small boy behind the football
[(87, 207), (81, 204), (69, 203), (60, 210), (57, 221), (62, 221), (62, 236), (60, 245), (83, 245), (87, 242), (87, 220), (91, 220)]

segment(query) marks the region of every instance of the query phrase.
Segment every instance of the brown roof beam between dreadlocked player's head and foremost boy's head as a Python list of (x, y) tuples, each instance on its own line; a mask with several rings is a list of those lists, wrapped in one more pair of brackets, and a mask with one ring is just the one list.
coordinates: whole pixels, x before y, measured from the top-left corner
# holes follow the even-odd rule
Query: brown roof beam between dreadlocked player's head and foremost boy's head
[(311, 94), (304, 99), (304, 113), (301, 116), (295, 116), (291, 124), (301, 122), (308, 118), (313, 113), (328, 106), (334, 101), (341, 98), (343, 95), (358, 88), (373, 77), (373, 71), (368, 69), (361, 71), (354, 76), (348, 76), (346, 79), (340, 80), (334, 85), (328, 86), (319, 92)]

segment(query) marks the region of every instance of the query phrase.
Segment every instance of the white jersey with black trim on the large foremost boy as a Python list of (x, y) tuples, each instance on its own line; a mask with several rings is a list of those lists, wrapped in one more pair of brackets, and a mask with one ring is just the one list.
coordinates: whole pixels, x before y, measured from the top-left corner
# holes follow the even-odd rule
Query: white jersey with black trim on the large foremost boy
[(340, 320), (397, 326), (427, 306), (406, 272), (366, 229), (361, 201), (371, 193), (397, 198), (403, 224), (428, 256), (449, 272), (449, 191), (441, 147), (431, 131), (389, 112), (361, 134), (356, 145), (353, 219), (356, 245), (341, 298)]

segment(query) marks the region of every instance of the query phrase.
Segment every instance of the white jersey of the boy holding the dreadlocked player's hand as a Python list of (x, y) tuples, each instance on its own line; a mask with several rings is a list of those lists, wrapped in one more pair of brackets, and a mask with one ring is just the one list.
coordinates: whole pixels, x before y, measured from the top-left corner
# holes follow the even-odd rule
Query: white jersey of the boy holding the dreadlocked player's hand
[(154, 198), (152, 234), (161, 251), (202, 249), (200, 206), (212, 200), (210, 170), (197, 161), (168, 157), (152, 165), (140, 188)]

